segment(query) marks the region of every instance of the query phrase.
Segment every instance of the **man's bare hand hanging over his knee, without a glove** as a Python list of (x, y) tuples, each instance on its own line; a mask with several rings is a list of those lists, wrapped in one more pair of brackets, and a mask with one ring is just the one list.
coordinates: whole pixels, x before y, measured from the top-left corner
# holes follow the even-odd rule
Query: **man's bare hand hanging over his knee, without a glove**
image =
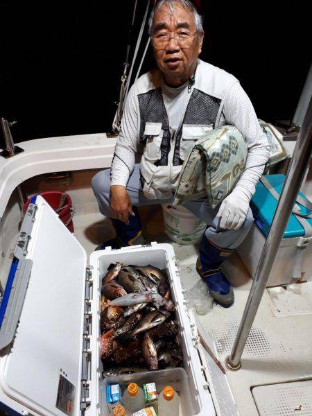
[(112, 216), (129, 224), (129, 214), (135, 215), (132, 211), (131, 200), (127, 189), (121, 185), (112, 185), (110, 187), (110, 211)]

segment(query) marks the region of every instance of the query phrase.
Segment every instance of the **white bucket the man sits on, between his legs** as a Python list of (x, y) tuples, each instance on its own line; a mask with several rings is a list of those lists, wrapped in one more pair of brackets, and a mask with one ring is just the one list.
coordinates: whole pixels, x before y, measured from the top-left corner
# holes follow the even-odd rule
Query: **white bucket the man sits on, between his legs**
[(172, 241), (179, 244), (198, 244), (207, 227), (189, 209), (178, 205), (162, 205), (166, 234)]

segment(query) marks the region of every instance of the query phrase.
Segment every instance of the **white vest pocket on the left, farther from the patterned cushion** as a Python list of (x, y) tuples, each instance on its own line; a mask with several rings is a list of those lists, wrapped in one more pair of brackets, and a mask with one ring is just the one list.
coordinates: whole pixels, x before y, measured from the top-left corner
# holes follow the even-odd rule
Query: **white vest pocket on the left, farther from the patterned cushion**
[(160, 146), (163, 135), (162, 123), (146, 122), (144, 128), (144, 156), (148, 162), (156, 162), (160, 158)]

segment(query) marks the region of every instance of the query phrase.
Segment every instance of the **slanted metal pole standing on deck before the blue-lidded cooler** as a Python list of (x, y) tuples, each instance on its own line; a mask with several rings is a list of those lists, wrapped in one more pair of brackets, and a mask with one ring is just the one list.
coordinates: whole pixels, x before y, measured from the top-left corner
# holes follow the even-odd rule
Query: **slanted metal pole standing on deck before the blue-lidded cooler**
[(277, 250), (284, 236), (288, 219), (293, 211), (297, 194), (300, 190), (312, 151), (312, 98), (300, 129), (291, 163), (288, 166), (284, 187), (279, 197), (275, 216), (266, 239), (252, 288), (243, 312), (243, 318), (237, 331), (236, 339), (230, 356), (225, 358), (229, 370), (241, 368), (241, 356), (247, 341), (254, 317), (256, 316), (263, 292), (266, 288)]

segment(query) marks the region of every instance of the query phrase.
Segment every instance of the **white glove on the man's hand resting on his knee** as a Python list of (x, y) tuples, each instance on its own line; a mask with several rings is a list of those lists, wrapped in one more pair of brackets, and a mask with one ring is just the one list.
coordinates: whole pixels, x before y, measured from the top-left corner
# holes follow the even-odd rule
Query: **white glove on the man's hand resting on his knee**
[(217, 217), (221, 218), (220, 228), (239, 229), (248, 213), (249, 203), (235, 193), (230, 193), (222, 202)]

